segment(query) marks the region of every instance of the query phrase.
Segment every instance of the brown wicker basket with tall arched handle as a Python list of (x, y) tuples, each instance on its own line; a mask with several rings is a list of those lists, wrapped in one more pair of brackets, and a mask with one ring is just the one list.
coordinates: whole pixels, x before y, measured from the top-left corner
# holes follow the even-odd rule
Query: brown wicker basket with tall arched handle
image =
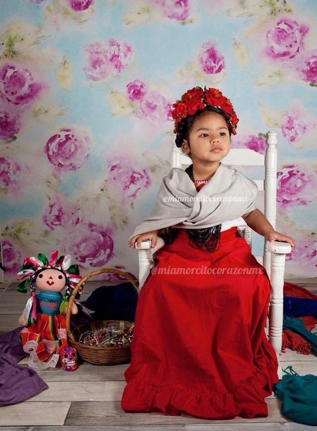
[(76, 349), (79, 357), (86, 362), (100, 364), (100, 365), (113, 365), (116, 363), (126, 363), (126, 362), (129, 362), (131, 359), (130, 345), (94, 347), (94, 346), (87, 346), (85, 344), (78, 343), (76, 340), (78, 340), (80, 335), (86, 330), (94, 331), (95, 329), (105, 327), (106, 325), (111, 325), (118, 329), (126, 329), (131, 327), (133, 325), (133, 322), (127, 322), (125, 320), (102, 320), (102, 321), (100, 320), (97, 322), (90, 322), (85, 325), (76, 326), (73, 329), (73, 333), (70, 330), (71, 306), (79, 287), (91, 277), (94, 277), (102, 273), (112, 273), (112, 274), (122, 275), (132, 283), (133, 287), (139, 293), (135, 280), (133, 280), (130, 275), (128, 275), (123, 271), (119, 271), (114, 268), (103, 268), (101, 270), (92, 271), (89, 274), (87, 274), (76, 285), (76, 287), (72, 291), (72, 294), (70, 295), (70, 298), (69, 298), (69, 303), (68, 303), (67, 313), (66, 313), (66, 332), (67, 332), (68, 342), (73, 348)]

